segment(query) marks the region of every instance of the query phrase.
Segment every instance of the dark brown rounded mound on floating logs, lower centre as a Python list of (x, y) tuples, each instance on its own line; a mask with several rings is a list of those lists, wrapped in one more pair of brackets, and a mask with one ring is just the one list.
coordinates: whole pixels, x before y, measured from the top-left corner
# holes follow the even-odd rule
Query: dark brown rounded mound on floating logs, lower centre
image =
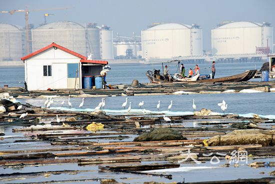
[(155, 128), (148, 133), (142, 133), (138, 137), (135, 137), (133, 141), (159, 141), (159, 140), (186, 140), (176, 130), (170, 128)]

